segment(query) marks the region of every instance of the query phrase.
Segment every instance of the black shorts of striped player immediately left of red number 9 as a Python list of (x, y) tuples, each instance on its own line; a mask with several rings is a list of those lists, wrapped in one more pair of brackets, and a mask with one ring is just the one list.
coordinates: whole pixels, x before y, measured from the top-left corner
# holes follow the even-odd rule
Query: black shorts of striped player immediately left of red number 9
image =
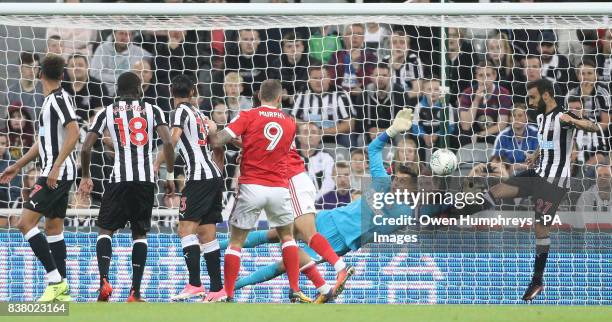
[(223, 222), (223, 179), (187, 181), (183, 188), (179, 221), (195, 221), (200, 225)]

